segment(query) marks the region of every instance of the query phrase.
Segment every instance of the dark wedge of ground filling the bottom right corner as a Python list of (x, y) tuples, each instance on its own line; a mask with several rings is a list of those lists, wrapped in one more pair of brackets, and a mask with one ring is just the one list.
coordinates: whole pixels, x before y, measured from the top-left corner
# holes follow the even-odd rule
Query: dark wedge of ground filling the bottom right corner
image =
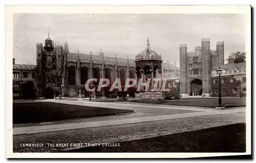
[(65, 152), (246, 152), (245, 123), (121, 142), (120, 147), (87, 147)]

